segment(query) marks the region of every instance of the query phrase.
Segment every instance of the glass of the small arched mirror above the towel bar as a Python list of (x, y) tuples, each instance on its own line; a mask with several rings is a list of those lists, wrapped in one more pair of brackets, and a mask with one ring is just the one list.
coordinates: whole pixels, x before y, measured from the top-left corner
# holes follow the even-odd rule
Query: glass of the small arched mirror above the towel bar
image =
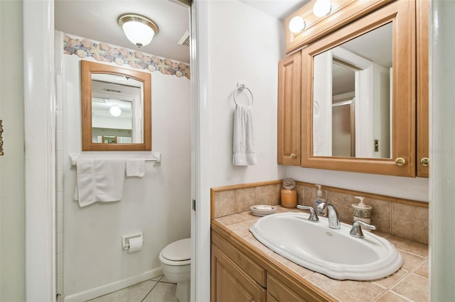
[(142, 83), (115, 74), (92, 74), (92, 142), (143, 142)]

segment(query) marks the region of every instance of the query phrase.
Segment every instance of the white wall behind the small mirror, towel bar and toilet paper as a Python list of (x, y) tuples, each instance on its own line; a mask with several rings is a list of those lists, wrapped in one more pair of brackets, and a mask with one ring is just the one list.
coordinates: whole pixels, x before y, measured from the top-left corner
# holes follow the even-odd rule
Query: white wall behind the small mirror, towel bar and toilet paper
[[(75, 170), (68, 153), (81, 152), (80, 58), (64, 55), (64, 291), (65, 296), (105, 286), (160, 267), (159, 252), (190, 236), (190, 82), (152, 73), (152, 149), (161, 166), (146, 162), (143, 178), (128, 178), (122, 201), (80, 208), (73, 200)], [(126, 155), (125, 155), (126, 154)], [(82, 152), (81, 156), (151, 157), (150, 152)], [(144, 233), (141, 251), (127, 254), (121, 237)]]

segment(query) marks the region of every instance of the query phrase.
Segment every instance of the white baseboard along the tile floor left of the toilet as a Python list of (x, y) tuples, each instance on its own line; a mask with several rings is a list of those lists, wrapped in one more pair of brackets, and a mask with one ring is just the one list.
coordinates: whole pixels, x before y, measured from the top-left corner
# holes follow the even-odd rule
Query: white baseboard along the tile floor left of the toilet
[(143, 272), (142, 274), (131, 276), (127, 279), (115, 281), (103, 286), (96, 287), (95, 289), (89, 289), (88, 291), (82, 291), (80, 293), (75, 293), (71, 296), (66, 296), (63, 298), (65, 302), (83, 302), (96, 298), (107, 293), (112, 293), (118, 291), (119, 289), (124, 289), (125, 287), (132, 286), (134, 284), (141, 283), (143, 281), (155, 278), (163, 274), (161, 267), (157, 269), (152, 269), (151, 271)]

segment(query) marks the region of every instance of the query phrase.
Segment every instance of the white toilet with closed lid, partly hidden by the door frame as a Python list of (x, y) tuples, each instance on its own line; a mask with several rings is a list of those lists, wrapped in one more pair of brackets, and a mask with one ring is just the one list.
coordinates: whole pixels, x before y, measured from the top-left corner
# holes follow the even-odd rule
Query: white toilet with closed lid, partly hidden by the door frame
[(174, 241), (159, 253), (164, 276), (176, 282), (176, 297), (180, 302), (190, 302), (191, 238)]

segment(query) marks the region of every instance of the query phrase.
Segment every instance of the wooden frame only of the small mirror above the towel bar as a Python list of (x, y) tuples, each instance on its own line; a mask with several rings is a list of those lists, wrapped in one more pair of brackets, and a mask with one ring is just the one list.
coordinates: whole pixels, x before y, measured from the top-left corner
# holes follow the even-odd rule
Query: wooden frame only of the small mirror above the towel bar
[[(82, 151), (150, 151), (151, 150), (151, 74), (97, 62), (81, 61)], [(119, 74), (137, 79), (144, 87), (144, 142), (102, 144), (92, 142), (92, 74)]]

